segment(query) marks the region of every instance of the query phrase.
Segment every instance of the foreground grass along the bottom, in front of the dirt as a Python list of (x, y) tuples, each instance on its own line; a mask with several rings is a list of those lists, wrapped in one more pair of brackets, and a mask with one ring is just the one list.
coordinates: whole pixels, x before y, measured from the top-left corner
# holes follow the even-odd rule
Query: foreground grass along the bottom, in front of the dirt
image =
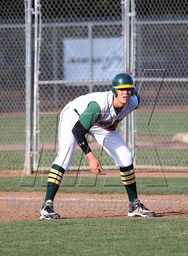
[(0, 223), (3, 256), (186, 256), (186, 218), (73, 218)]

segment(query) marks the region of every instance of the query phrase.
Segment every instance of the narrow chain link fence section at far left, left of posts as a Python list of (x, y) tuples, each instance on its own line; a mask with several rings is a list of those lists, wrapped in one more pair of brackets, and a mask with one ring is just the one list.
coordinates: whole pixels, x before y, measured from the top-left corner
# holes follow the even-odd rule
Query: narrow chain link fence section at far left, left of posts
[(0, 1), (0, 170), (25, 161), (24, 1)]

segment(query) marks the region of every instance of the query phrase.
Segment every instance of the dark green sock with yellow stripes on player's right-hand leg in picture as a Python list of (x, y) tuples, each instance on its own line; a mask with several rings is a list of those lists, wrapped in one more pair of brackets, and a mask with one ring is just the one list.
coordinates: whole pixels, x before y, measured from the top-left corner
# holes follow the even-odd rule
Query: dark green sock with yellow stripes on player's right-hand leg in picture
[(128, 194), (129, 202), (138, 198), (134, 166), (120, 167), (121, 180)]

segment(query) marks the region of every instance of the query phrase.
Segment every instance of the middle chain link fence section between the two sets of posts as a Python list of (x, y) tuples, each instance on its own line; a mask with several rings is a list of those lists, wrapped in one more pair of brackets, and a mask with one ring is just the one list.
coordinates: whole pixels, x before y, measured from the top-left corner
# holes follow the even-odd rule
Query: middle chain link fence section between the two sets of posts
[[(39, 166), (49, 168), (56, 156), (56, 126), (64, 106), (82, 94), (111, 90), (112, 77), (122, 72), (122, 6), (119, 0), (43, 0), (40, 4), (38, 143), (43, 153)], [(99, 157), (97, 144), (93, 149)], [(71, 168), (80, 162), (88, 166), (81, 155), (76, 148)], [(106, 153), (100, 158), (103, 166), (115, 165)]]

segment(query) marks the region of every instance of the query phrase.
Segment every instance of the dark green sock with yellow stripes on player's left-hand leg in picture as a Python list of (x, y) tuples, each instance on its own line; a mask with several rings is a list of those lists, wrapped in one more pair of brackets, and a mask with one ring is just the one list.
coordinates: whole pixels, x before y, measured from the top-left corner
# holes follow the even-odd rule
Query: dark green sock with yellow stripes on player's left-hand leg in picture
[(48, 175), (47, 193), (46, 193), (46, 198), (44, 202), (46, 202), (47, 200), (54, 201), (55, 195), (63, 179), (64, 172), (65, 170), (61, 166), (58, 166), (56, 164), (52, 165)]

